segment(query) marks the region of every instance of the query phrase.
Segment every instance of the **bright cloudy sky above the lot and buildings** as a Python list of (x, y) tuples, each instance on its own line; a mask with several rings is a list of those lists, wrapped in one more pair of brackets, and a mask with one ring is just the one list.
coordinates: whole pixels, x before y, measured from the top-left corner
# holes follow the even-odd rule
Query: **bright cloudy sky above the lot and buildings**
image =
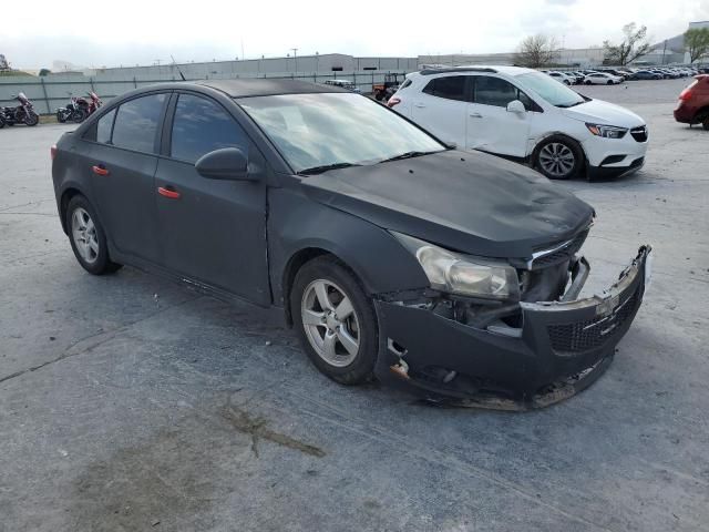
[[(0, 25), (0, 53), (13, 68), (82, 66), (347, 53), (508, 52), (528, 34), (565, 48), (617, 41), (628, 22), (653, 42), (709, 20), (709, 0), (449, 0), (448, 2), (121, 0), (81, 4), (34, 0)], [(75, 7), (75, 6), (74, 6)], [(8, 14), (8, 13), (6, 13)]]

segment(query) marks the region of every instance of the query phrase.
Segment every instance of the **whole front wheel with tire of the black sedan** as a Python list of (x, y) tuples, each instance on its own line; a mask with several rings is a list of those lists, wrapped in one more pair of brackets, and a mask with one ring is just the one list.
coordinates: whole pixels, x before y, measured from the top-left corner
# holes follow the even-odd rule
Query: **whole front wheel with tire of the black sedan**
[(353, 273), (326, 255), (296, 274), (290, 309), (302, 348), (327, 377), (342, 385), (371, 379), (379, 326), (371, 300)]

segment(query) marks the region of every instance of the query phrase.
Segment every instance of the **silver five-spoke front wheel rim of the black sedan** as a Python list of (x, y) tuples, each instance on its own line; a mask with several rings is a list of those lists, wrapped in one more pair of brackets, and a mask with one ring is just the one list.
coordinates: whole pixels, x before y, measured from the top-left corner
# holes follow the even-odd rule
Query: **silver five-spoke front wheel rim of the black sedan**
[(335, 283), (316, 279), (304, 294), (300, 307), (306, 336), (326, 362), (345, 367), (359, 352), (360, 329), (352, 301)]

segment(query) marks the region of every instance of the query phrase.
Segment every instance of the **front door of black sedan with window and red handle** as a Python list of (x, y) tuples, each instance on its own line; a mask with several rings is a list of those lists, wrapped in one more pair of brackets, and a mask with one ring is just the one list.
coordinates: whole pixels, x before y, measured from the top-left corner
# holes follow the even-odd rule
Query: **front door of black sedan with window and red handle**
[[(240, 147), (249, 172), (265, 172), (263, 157), (220, 103), (199, 94), (175, 94), (169, 153), (155, 174), (163, 265), (257, 304), (268, 304), (266, 180), (203, 177), (194, 163), (222, 147)], [(258, 176), (256, 176), (258, 177)]]

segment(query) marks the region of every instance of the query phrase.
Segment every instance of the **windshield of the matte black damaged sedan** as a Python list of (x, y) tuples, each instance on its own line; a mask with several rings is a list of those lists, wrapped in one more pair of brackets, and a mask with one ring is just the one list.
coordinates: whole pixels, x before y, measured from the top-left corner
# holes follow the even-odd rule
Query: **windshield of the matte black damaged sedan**
[(237, 102), (296, 172), (445, 150), (394, 112), (358, 94), (286, 94)]

